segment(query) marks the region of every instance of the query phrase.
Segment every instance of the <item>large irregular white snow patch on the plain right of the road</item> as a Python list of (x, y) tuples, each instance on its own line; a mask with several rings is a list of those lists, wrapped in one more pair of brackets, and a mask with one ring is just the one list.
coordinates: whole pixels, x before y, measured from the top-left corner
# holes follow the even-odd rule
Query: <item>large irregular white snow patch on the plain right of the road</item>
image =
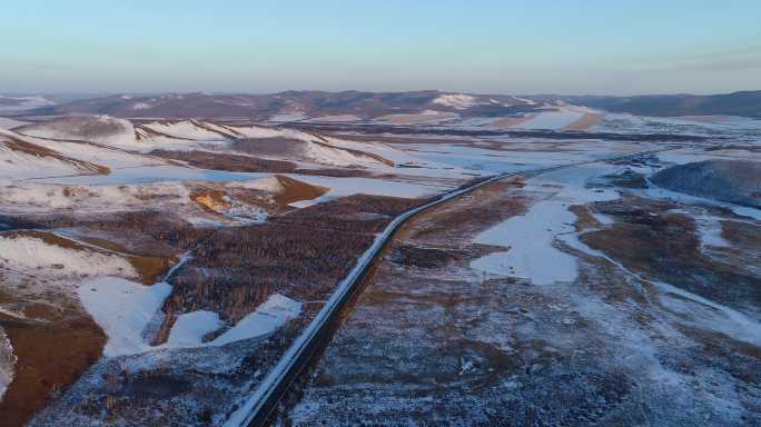
[[(471, 262), (487, 274), (524, 278), (534, 285), (573, 281), (577, 261), (554, 245), (560, 235), (574, 231), (576, 216), (572, 205), (614, 200), (615, 191), (584, 188), (586, 179), (601, 175), (601, 166), (580, 166), (527, 180), (526, 190), (544, 193), (526, 214), (503, 221), (476, 237), (476, 242), (508, 248)], [(548, 190), (554, 188), (554, 190)]]

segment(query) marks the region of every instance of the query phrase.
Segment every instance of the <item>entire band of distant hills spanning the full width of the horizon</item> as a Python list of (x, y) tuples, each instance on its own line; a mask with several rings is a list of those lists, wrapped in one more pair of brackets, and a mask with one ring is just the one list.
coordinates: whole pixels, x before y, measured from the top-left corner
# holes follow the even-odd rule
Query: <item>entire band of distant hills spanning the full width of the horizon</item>
[(505, 117), (571, 103), (638, 116), (742, 116), (761, 118), (761, 90), (724, 95), (505, 96), (441, 92), (285, 91), (271, 95), (112, 95), (56, 103), (40, 97), (0, 97), (0, 110), (28, 115), (110, 115), (123, 118), (247, 118), (366, 120), (393, 115)]

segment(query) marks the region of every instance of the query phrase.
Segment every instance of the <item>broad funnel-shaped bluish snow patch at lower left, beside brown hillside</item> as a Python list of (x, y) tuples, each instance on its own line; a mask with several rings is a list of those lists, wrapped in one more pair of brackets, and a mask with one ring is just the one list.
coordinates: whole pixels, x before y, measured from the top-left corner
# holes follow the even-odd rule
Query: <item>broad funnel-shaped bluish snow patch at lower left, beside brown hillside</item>
[(86, 281), (77, 292), (87, 312), (108, 336), (103, 355), (115, 357), (150, 349), (142, 339), (142, 331), (171, 294), (171, 286), (166, 282), (145, 286), (117, 277), (101, 277)]

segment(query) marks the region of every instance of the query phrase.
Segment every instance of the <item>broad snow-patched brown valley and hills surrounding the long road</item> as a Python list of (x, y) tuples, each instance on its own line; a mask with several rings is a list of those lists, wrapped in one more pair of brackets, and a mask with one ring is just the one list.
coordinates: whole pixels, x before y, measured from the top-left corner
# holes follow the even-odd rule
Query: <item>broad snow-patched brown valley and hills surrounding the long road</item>
[(9, 426), (235, 425), (370, 254), (269, 423), (759, 421), (758, 120), (279, 96), (8, 115)]

